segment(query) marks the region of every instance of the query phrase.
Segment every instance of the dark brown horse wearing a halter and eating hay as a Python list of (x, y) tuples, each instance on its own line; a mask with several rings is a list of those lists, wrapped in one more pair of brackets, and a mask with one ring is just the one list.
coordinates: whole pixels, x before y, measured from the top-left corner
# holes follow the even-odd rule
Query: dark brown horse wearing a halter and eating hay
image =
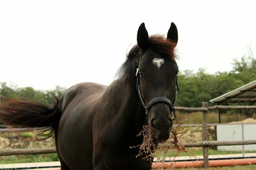
[[(176, 117), (178, 31), (148, 36), (145, 24), (109, 86), (84, 82), (52, 106), (1, 96), (0, 122), (16, 128), (52, 130), (61, 170), (150, 170), (136, 157), (137, 136), (149, 124), (158, 142), (169, 138)], [(143, 155), (142, 155), (143, 157)]]

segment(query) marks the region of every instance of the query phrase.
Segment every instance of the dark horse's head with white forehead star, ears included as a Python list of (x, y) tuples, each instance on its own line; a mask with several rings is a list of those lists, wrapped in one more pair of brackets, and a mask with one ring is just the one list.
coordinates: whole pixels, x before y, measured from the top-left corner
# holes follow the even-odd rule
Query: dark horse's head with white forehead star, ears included
[(137, 44), (141, 50), (136, 73), (137, 90), (151, 131), (160, 142), (169, 138), (176, 116), (178, 66), (174, 48), (177, 42), (178, 31), (173, 23), (166, 39), (159, 35), (148, 37), (144, 23), (138, 29)]

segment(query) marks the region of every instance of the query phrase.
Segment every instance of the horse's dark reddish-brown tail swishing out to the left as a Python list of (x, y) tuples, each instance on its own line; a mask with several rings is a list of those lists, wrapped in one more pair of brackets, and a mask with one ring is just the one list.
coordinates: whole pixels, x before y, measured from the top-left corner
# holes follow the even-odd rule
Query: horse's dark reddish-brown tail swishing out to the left
[(12, 128), (40, 128), (42, 133), (51, 130), (50, 137), (59, 124), (59, 100), (53, 96), (56, 102), (48, 107), (33, 100), (17, 101), (0, 95), (0, 122)]

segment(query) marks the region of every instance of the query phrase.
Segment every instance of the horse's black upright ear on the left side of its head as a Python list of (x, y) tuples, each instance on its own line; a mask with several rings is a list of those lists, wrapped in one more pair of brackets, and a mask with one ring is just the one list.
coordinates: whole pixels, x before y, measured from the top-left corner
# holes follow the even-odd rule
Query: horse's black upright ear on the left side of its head
[(139, 26), (139, 29), (138, 29), (137, 44), (141, 49), (148, 48), (148, 31), (145, 27), (144, 22)]

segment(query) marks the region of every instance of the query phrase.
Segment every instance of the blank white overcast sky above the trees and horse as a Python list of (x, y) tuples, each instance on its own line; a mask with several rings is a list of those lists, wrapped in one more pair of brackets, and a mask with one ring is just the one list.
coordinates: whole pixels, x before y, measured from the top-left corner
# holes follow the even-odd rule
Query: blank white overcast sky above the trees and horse
[(254, 1), (0, 1), (0, 82), (50, 90), (80, 82), (109, 85), (136, 43), (178, 28), (179, 69), (230, 71), (234, 58), (256, 56)]

